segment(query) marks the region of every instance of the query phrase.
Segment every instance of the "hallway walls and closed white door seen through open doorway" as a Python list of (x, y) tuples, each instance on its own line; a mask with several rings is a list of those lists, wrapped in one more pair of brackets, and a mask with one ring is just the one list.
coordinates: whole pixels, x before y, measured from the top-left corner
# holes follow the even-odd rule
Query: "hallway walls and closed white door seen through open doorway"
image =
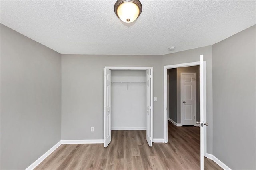
[(199, 66), (167, 69), (168, 120), (176, 126), (200, 121)]

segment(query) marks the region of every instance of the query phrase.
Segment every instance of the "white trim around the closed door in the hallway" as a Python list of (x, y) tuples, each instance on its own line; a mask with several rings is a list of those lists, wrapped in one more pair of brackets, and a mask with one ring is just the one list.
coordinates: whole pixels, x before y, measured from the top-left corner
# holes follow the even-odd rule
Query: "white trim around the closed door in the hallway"
[[(183, 85), (183, 83), (182, 83), (182, 79), (181, 79), (181, 76), (182, 76), (182, 74), (193, 74), (194, 75), (194, 77), (195, 77), (195, 79), (196, 79), (196, 73), (195, 72), (181, 72), (180, 73), (180, 124), (181, 124), (181, 126), (183, 126), (183, 116), (182, 116), (182, 97), (181, 97), (181, 94), (182, 94), (182, 85)], [(196, 81), (193, 81), (193, 83), (194, 83), (194, 97), (195, 97), (195, 99), (194, 99), (194, 102), (193, 102), (193, 105), (194, 105), (194, 109), (193, 109), (193, 112), (194, 112), (194, 121), (193, 121), (193, 125), (194, 126), (196, 126)], [(168, 111), (168, 109), (167, 109), (167, 111)]]

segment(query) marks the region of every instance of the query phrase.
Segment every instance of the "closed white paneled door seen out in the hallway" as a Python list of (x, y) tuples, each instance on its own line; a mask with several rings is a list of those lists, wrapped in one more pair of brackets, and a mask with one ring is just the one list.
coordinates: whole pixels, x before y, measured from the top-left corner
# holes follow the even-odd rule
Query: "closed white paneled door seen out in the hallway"
[(194, 125), (196, 114), (196, 73), (181, 73), (181, 119), (182, 125)]

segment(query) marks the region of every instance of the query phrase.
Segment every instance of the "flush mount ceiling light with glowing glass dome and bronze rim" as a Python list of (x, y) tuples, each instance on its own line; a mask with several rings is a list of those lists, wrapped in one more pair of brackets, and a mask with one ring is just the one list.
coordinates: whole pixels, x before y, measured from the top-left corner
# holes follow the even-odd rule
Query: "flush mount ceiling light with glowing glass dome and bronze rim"
[(139, 0), (118, 0), (114, 11), (123, 22), (130, 23), (140, 16), (142, 5)]

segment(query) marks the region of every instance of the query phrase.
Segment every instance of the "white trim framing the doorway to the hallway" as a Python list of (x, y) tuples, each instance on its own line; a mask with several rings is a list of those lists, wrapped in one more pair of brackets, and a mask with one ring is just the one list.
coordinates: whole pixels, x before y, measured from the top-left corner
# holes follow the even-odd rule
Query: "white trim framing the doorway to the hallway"
[[(168, 112), (167, 112), (167, 69), (173, 69), (178, 67), (190, 67), (200, 65), (200, 61), (191, 62), (191, 63), (181, 63), (174, 65), (164, 65), (164, 143), (168, 143)], [(204, 61), (204, 71), (206, 77), (206, 61)], [(206, 114), (206, 78), (204, 78), (204, 113)], [(206, 117), (204, 118), (206, 119)], [(204, 156), (206, 156), (206, 130), (204, 132)]]

